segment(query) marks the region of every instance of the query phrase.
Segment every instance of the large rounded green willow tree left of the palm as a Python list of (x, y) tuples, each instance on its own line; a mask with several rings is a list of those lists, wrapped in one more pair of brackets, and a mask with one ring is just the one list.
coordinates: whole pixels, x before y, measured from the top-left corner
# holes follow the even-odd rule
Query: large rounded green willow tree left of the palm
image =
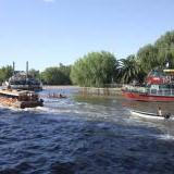
[(88, 87), (103, 87), (112, 82), (116, 65), (115, 57), (105, 51), (90, 52), (78, 59), (71, 70), (74, 84)]

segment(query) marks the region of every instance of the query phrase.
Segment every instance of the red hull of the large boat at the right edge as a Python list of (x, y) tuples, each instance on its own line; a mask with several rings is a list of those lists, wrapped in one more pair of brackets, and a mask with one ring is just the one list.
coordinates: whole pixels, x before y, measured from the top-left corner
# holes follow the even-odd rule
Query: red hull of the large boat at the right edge
[(148, 95), (145, 92), (136, 92), (128, 90), (122, 90), (122, 95), (127, 99), (138, 101), (174, 101), (174, 96)]

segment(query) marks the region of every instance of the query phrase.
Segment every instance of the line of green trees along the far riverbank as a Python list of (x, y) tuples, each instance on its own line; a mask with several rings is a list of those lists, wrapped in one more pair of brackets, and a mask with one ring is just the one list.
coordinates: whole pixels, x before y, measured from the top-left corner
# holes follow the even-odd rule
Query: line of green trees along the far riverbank
[[(128, 84), (136, 79), (142, 83), (152, 69), (174, 69), (174, 30), (166, 32), (154, 44), (146, 45), (124, 59), (117, 59), (107, 51), (89, 52), (75, 61), (73, 65), (47, 67), (39, 72), (29, 70), (29, 74), (47, 85), (79, 85), (84, 87), (103, 87), (105, 84)], [(0, 69), (0, 83), (13, 73), (12, 66)]]

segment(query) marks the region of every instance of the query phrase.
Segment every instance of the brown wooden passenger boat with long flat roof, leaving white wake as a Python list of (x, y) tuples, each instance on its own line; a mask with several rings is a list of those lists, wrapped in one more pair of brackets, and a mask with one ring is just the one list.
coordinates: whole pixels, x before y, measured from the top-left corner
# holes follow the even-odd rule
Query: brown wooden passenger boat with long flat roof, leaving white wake
[(0, 103), (15, 108), (42, 107), (44, 100), (38, 95), (29, 90), (0, 89)]

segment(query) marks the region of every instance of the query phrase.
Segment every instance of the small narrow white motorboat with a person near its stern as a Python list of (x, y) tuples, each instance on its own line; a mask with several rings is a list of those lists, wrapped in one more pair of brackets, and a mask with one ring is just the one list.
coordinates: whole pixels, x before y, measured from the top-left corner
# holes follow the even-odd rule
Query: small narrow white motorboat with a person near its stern
[(137, 110), (129, 110), (130, 114), (134, 116), (139, 116), (144, 119), (152, 119), (152, 120), (174, 120), (174, 115), (171, 115), (171, 113), (166, 113), (163, 115), (158, 115), (157, 113), (149, 113), (149, 112), (142, 112)]

